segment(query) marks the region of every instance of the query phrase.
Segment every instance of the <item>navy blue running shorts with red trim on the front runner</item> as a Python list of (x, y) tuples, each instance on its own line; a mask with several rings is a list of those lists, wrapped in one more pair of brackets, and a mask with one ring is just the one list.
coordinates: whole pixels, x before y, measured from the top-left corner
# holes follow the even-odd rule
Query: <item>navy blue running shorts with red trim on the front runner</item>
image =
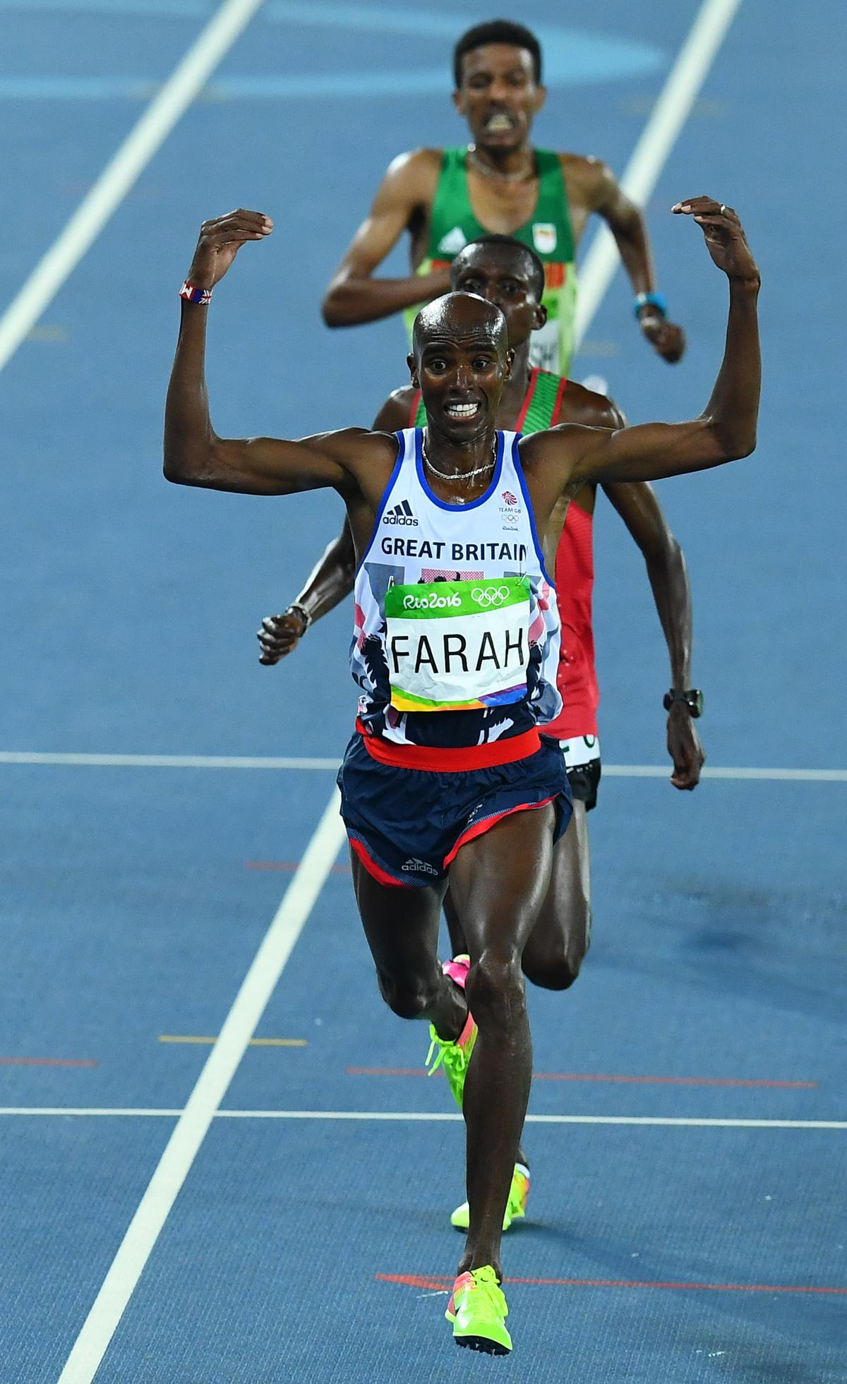
[(338, 772), (350, 847), (381, 884), (425, 889), (447, 875), (465, 841), (522, 808), (556, 808), (555, 840), (573, 804), (562, 752), (549, 742), (493, 768), (396, 768), (372, 758), (357, 732)]

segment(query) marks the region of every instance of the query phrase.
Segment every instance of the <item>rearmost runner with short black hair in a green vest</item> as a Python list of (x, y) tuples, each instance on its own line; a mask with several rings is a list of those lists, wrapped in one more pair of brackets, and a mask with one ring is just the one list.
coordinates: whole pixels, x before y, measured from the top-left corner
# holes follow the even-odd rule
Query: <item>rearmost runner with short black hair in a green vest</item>
[[(601, 161), (531, 144), (533, 119), (545, 97), (536, 36), (505, 19), (477, 25), (455, 46), (454, 78), (454, 102), (472, 143), (415, 149), (392, 162), (329, 284), (325, 322), (352, 327), (404, 313), (411, 327), (422, 302), (448, 291), (450, 263), (469, 241), (487, 231), (508, 234), (531, 246), (545, 267), (547, 325), (533, 339), (530, 363), (567, 375), (576, 251), (596, 213), (620, 249), (642, 334), (664, 360), (680, 360), (685, 339), (656, 292), (641, 210)], [(374, 278), (404, 231), (412, 273)]]

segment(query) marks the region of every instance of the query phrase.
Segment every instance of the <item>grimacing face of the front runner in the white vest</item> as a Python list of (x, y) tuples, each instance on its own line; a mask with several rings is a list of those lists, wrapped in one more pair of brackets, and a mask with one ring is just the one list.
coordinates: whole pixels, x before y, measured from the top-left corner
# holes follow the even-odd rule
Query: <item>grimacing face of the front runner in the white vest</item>
[(430, 432), (465, 447), (490, 432), (511, 360), (484, 325), (430, 336), (412, 361)]

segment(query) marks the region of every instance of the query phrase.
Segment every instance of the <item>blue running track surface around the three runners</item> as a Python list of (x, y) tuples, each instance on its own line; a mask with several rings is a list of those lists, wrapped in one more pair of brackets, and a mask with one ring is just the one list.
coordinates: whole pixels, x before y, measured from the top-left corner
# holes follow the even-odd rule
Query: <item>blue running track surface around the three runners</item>
[[(525, 0), (549, 55), (538, 143), (621, 172), (698, 8)], [(0, 307), (212, 12), (0, 0)], [(336, 498), (161, 476), (199, 221), (246, 205), (277, 226), (212, 310), (219, 430), (368, 424), (403, 383), (401, 328), (332, 334), (320, 296), (390, 158), (461, 138), (446, 58), (480, 17), (267, 0), (0, 378), (4, 1384), (58, 1380), (209, 1056), (184, 1039), (220, 1032), (353, 716), (349, 610), (275, 670), (253, 638), (340, 525)], [(256, 1031), (286, 1042), (248, 1048), (98, 1384), (847, 1380), (847, 774), (812, 772), (847, 768), (846, 50), (840, 0), (742, 0), (648, 209), (688, 356), (668, 370), (644, 347), (619, 274), (577, 361), (632, 421), (698, 412), (725, 289), (668, 208), (739, 209), (765, 284), (758, 450), (660, 489), (692, 573), (710, 765), (801, 776), (692, 796), (603, 779), (592, 952), (573, 991), (531, 994), (511, 1360), (450, 1341), (462, 1131), (421, 1075), (424, 1030), (379, 1001), (340, 853)], [(664, 765), (648, 584), (598, 511), (605, 760)], [(10, 761), (25, 752), (47, 760)]]

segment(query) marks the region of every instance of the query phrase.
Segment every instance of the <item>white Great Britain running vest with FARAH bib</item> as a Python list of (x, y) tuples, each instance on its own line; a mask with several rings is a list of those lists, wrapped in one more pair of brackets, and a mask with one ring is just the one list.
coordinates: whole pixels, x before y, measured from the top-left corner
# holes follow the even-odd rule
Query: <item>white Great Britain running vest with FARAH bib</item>
[(489, 489), (430, 490), (422, 429), (399, 453), (356, 574), (353, 678), (367, 728), (400, 745), (473, 746), (554, 720), (559, 616), (518, 455), (495, 435)]

